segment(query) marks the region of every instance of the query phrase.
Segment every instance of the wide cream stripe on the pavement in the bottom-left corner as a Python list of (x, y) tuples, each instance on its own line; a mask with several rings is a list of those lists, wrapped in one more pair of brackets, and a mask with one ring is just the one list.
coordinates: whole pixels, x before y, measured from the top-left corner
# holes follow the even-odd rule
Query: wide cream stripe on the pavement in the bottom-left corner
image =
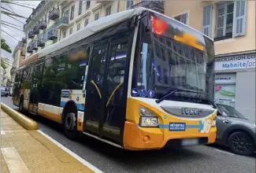
[(1, 150), (10, 173), (30, 173), (28, 167), (14, 147), (6, 147)]

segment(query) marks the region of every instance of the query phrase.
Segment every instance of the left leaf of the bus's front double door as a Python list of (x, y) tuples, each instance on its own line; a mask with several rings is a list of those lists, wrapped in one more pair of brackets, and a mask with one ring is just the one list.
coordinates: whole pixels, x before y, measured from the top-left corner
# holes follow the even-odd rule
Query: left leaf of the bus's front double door
[(84, 129), (95, 134), (100, 134), (99, 122), (102, 114), (102, 101), (105, 99), (102, 93), (108, 45), (107, 41), (102, 41), (93, 46), (87, 75)]

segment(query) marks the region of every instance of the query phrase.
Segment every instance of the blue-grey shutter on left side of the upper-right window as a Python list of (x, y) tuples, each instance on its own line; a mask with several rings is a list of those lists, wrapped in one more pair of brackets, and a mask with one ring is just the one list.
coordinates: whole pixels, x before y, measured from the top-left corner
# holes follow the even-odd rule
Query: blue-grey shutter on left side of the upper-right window
[(211, 37), (212, 5), (204, 6), (202, 12), (202, 33)]

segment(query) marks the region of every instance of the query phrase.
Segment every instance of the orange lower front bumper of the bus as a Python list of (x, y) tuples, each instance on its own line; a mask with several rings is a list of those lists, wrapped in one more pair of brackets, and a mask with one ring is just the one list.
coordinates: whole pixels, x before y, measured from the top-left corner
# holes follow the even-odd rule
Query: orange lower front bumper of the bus
[(124, 149), (149, 150), (163, 147), (180, 147), (184, 139), (198, 139), (196, 145), (215, 142), (216, 127), (211, 127), (207, 134), (179, 132), (170, 133), (168, 129), (156, 127), (139, 127), (135, 123), (125, 122), (124, 125)]

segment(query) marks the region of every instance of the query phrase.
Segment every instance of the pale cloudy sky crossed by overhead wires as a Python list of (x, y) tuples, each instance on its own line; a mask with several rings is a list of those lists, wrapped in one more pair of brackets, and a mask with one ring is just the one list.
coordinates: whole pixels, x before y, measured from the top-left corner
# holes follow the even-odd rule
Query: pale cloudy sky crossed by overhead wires
[[(20, 4), (22, 3), (22, 4), (32, 5), (31, 7), (35, 9), (36, 6), (39, 5), (39, 3), (41, 1), (14, 1), (14, 2), (20, 2)], [(26, 7), (23, 7), (23, 6), (17, 6), (17, 5), (13, 5), (13, 4), (9, 4), (9, 6), (8, 6), (8, 5), (6, 5), (6, 3), (1, 3), (1, 6), (6, 8), (6, 9), (9, 9), (11, 11), (13, 9), (13, 11), (15, 13), (17, 13), (20, 16), (23, 16), (23, 17), (29, 17), (30, 14), (32, 13), (32, 9), (28, 9)], [(24, 6), (26, 6), (26, 5), (24, 5)], [(25, 21), (26, 21), (26, 19), (21, 18), (21, 17), (15, 17), (15, 18), (17, 20), (22, 21), (23, 23), (25, 23)], [(14, 20), (11, 17), (7, 17), (5, 14), (1, 13), (1, 20), (12, 23), (12, 24), (19, 25), (20, 27), (17, 27), (17, 26), (13, 26), (13, 27), (16, 27), (16, 28), (19, 28), (20, 30), (23, 30), (23, 25), (24, 24), (20, 23), (17, 20)], [(9, 35), (12, 35), (14, 38), (16, 38), (17, 40), (20, 40), (20, 41), (25, 36), (23, 31), (19, 31), (15, 28), (6, 28), (6, 27), (3, 26), (3, 24), (1, 24), (1, 29), (3, 31), (6, 31)], [(1, 31), (1, 38), (6, 39), (7, 44), (10, 46), (11, 50), (13, 51), (15, 49), (15, 46), (17, 46), (18, 41), (13, 39), (9, 35), (7, 35), (5, 32)], [(5, 50), (1, 50), (1, 57), (8, 57), (10, 60), (12, 60), (13, 59), (13, 53), (8, 53)]]

